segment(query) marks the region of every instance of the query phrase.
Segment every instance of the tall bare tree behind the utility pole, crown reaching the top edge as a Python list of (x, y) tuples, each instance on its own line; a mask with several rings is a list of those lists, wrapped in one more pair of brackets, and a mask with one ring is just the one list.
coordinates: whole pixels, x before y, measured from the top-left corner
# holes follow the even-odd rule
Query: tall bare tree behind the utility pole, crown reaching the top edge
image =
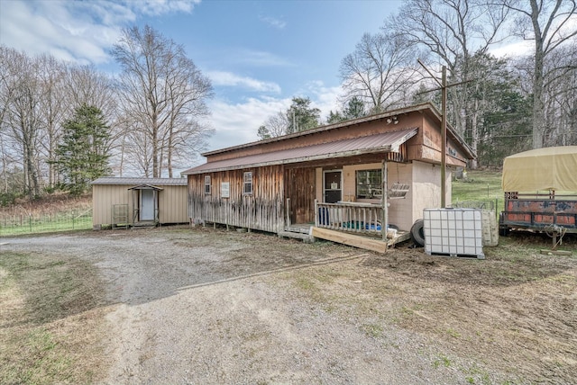
[[(409, 0), (385, 22), (405, 44), (426, 49), (431, 64), (448, 68), (453, 83), (470, 78), (473, 55), (483, 55), (499, 41), (507, 17), (503, 6), (484, 0)], [(455, 129), (463, 134), (471, 105), (463, 99), (467, 84), (449, 89), (450, 112)]]

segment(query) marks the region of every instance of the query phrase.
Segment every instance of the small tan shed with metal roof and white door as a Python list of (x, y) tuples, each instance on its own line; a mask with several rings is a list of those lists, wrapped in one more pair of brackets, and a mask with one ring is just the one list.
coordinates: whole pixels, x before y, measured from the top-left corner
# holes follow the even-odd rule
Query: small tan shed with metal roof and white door
[(99, 178), (92, 201), (95, 229), (188, 223), (185, 178)]

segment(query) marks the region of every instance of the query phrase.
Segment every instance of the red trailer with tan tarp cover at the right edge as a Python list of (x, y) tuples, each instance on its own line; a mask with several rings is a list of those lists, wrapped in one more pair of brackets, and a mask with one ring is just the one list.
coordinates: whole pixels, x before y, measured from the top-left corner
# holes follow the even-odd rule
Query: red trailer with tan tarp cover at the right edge
[(503, 162), (505, 209), (499, 234), (513, 228), (554, 237), (577, 233), (577, 146), (538, 148)]

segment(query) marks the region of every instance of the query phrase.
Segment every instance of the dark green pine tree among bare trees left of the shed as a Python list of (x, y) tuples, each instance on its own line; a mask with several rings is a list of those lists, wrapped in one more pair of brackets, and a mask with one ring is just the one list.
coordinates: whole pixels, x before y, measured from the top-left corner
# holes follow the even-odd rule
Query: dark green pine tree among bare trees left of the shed
[(62, 182), (60, 189), (73, 195), (86, 193), (90, 182), (110, 173), (105, 143), (109, 127), (102, 111), (83, 104), (62, 124), (62, 143), (56, 150)]

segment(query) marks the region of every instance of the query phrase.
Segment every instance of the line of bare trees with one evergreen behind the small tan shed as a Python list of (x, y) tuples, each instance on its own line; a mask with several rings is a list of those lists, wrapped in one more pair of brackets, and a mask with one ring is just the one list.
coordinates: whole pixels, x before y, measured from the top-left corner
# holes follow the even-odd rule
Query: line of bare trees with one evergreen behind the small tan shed
[(122, 72), (0, 45), (0, 197), (83, 193), (102, 175), (174, 176), (206, 146), (212, 85), (149, 26), (112, 50)]

